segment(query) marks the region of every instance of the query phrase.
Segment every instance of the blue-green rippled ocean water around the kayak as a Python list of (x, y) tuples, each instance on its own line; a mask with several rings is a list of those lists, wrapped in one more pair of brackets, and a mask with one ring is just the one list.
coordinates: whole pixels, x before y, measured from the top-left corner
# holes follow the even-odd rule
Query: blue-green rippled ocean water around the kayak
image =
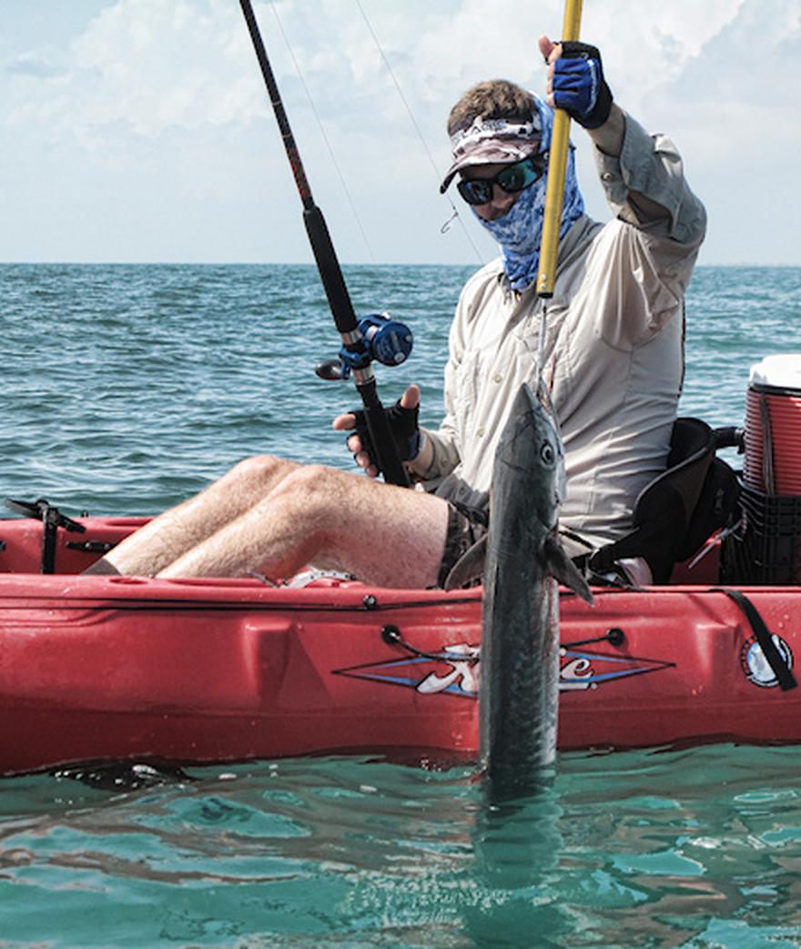
[[(428, 424), (470, 270), (346, 269), (413, 327), (379, 381)], [(687, 318), (682, 413), (740, 423), (750, 364), (801, 352), (801, 270), (700, 268)], [(351, 465), (308, 267), (0, 265), (0, 329), (0, 496), (146, 514), (257, 452)], [(361, 757), (8, 778), (0, 947), (798, 946), (799, 774), (794, 747), (561, 754), (504, 806)]]

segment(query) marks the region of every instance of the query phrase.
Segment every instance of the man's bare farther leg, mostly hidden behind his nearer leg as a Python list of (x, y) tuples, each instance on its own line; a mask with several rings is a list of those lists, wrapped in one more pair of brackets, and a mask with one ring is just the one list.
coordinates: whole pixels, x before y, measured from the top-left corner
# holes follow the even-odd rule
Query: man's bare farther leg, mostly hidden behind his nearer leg
[(246, 458), (205, 491), (159, 514), (87, 573), (153, 577), (244, 512), (250, 511), (298, 465), (273, 456)]

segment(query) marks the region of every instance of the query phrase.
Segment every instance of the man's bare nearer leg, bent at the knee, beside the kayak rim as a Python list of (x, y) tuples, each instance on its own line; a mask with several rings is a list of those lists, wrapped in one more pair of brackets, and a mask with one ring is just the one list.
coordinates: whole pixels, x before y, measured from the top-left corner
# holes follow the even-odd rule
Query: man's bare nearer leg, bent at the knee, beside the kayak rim
[(313, 563), (380, 586), (435, 586), (447, 524), (439, 497), (322, 465), (296, 466), (158, 576), (258, 571), (278, 579)]

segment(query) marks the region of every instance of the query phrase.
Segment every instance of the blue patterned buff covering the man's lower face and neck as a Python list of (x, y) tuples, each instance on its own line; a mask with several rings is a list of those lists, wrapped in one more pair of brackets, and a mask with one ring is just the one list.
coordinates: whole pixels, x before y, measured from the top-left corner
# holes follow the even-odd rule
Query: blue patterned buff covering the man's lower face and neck
[[(542, 127), (539, 150), (547, 152), (550, 148), (550, 133), (553, 128), (553, 111), (538, 96), (534, 96), (534, 102), (537, 105)], [(584, 214), (584, 198), (579, 191), (576, 179), (573, 151), (573, 145), (570, 145), (565, 174), (565, 199), (562, 203), (562, 224), (559, 229), (560, 240), (568, 233), (570, 226)], [(475, 214), (475, 208), (471, 209), (479, 223), (500, 245), (504, 270), (512, 289), (515, 290), (530, 287), (537, 278), (545, 217), (546, 180), (547, 176), (543, 176), (530, 188), (521, 192), (509, 214), (504, 214), (497, 220), (485, 221)]]

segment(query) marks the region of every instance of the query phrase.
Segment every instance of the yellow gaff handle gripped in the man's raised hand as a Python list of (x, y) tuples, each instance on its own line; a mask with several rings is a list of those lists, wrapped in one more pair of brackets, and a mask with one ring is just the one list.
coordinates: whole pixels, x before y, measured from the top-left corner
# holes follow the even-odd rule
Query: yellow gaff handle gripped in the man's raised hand
[[(562, 39), (576, 41), (581, 27), (582, 0), (565, 0), (565, 24)], [(545, 192), (545, 219), (540, 242), (540, 270), (537, 296), (552, 297), (556, 283), (556, 255), (559, 251), (559, 227), (562, 223), (562, 202), (565, 199), (565, 171), (568, 165), (570, 117), (564, 109), (555, 109), (550, 137), (548, 185)]]

